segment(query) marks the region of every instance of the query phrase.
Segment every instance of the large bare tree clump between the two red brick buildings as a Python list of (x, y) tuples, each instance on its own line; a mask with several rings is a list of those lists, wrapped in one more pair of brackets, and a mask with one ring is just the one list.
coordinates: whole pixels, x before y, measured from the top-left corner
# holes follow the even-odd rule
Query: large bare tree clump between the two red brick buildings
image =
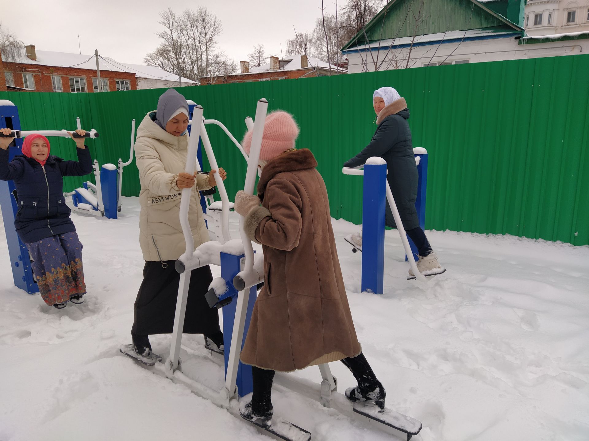
[(223, 32), (221, 21), (207, 8), (187, 9), (181, 15), (168, 8), (160, 12), (160, 18), (158, 23), (164, 30), (156, 35), (163, 43), (145, 56), (145, 64), (194, 81), (211, 71), (221, 75), (236, 71), (235, 63), (218, 47), (217, 37)]

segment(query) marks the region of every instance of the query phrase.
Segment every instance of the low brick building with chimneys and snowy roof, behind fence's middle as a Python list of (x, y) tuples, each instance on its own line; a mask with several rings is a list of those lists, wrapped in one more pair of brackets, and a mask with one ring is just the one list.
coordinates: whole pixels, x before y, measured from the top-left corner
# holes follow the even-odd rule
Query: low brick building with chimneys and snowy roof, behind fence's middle
[(274, 79), (310, 78), (347, 74), (348, 70), (306, 55), (293, 55), (284, 59), (271, 56), (270, 62), (259, 68), (250, 69), (249, 62), (240, 62), (240, 74), (204, 76), (198, 78), (201, 85), (270, 81)]

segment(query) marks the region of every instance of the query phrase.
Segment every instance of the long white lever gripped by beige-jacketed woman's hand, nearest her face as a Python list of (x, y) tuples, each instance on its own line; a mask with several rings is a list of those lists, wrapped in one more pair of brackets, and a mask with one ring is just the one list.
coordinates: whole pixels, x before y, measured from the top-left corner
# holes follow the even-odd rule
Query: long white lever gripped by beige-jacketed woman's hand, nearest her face
[[(196, 106), (193, 110), (193, 119), (200, 121), (203, 118), (202, 106)], [(198, 139), (200, 138), (200, 125), (190, 131), (188, 138), (188, 151), (186, 154), (186, 167), (184, 172), (189, 175), (194, 174), (196, 167), (196, 155), (198, 153)], [(190, 228), (190, 221), (188, 220), (188, 209), (190, 208), (190, 199), (193, 188), (183, 188), (180, 199), (180, 225), (184, 233), (184, 241), (186, 242), (186, 255), (193, 255), (194, 253), (194, 238), (192, 237), (192, 230)], [(184, 271), (180, 275), (180, 284), (178, 285), (178, 297), (176, 299), (176, 313), (174, 315), (174, 329), (172, 331), (172, 342), (170, 348), (170, 360), (172, 368), (178, 368), (178, 358), (180, 357), (180, 343), (182, 341), (182, 331), (184, 330), (184, 315), (186, 314), (186, 302), (188, 300), (188, 286), (190, 285), (191, 271)]]

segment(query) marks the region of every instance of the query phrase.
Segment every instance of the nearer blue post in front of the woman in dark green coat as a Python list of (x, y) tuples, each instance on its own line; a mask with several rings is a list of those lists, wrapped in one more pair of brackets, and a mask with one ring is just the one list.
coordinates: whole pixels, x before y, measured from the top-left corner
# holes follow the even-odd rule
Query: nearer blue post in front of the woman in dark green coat
[(364, 166), (362, 292), (382, 294), (385, 269), (386, 163)]

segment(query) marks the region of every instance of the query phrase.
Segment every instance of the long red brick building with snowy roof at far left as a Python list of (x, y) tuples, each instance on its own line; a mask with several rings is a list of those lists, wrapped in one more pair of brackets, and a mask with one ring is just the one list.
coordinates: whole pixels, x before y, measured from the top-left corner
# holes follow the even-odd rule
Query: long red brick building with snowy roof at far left
[[(16, 62), (1, 58), (0, 90), (98, 92), (94, 55), (36, 51), (35, 45), (27, 45)], [(108, 57), (101, 56), (99, 66), (104, 92), (195, 84), (159, 68), (125, 65)]]

